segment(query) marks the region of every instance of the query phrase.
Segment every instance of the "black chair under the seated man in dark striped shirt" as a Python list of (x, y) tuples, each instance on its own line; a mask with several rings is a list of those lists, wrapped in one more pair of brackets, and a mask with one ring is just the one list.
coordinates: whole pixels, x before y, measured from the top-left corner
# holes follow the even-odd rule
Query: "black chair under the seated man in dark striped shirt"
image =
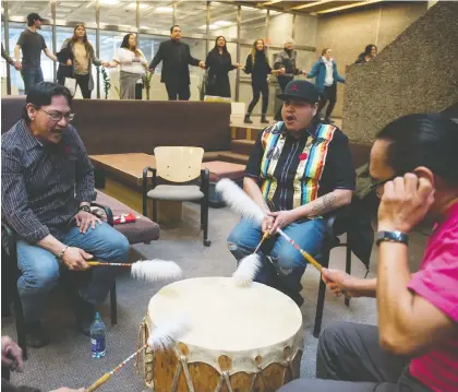
[[(91, 203), (92, 207), (103, 209), (107, 216), (107, 223), (113, 225), (113, 214), (110, 207), (106, 205), (100, 205), (97, 203)], [(1, 223), (2, 226), (2, 238), (1, 238), (1, 253), (2, 253), (2, 316), (5, 312), (4, 307), (10, 306), (11, 299), (14, 304), (14, 316), (16, 321), (16, 333), (17, 333), (17, 344), (22, 348), (24, 358), (27, 358), (27, 346), (25, 338), (25, 323), (24, 323), (24, 313), (22, 309), (22, 301), (17, 290), (17, 280), (21, 276), (21, 271), (17, 268), (17, 254), (16, 254), (16, 236), (10, 226), (7, 225), (4, 219)], [(5, 281), (3, 281), (3, 274), (5, 275)], [(4, 283), (7, 283), (7, 287)], [(12, 293), (11, 298), (9, 295)], [(4, 299), (3, 299), (4, 298)], [(3, 302), (4, 300), (4, 302)], [(118, 308), (117, 308), (117, 294), (116, 294), (116, 282), (110, 290), (110, 317), (111, 324), (116, 325), (118, 323)]]

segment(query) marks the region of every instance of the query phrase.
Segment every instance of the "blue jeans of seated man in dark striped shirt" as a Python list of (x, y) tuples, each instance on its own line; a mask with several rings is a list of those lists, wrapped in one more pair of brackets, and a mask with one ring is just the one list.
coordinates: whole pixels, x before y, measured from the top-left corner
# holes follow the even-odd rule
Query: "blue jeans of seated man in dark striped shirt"
[[(97, 224), (95, 229), (89, 228), (86, 234), (72, 227), (58, 238), (70, 247), (93, 254), (94, 260), (107, 262), (125, 262), (130, 248), (128, 239), (105, 222)], [(47, 295), (59, 278), (60, 264), (57, 257), (46, 249), (24, 240), (17, 241), (17, 265), (22, 272), (17, 289), (26, 322), (41, 319)], [(80, 296), (94, 305), (103, 302), (114, 283), (116, 273), (117, 269), (111, 266), (92, 269), (91, 280), (80, 288)]]

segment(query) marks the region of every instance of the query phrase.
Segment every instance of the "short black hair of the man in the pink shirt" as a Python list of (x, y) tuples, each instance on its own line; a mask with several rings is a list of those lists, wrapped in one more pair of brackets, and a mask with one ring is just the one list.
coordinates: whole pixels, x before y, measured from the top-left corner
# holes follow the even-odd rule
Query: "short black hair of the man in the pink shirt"
[(441, 114), (398, 118), (376, 136), (389, 142), (386, 163), (397, 175), (427, 167), (444, 181), (458, 186), (458, 123)]

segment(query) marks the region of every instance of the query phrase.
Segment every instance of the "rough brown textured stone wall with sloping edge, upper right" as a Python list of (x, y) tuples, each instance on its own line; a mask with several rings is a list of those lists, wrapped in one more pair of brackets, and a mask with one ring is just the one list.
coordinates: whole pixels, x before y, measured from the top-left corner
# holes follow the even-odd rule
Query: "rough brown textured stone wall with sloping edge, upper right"
[(458, 2), (438, 2), (373, 61), (347, 69), (342, 129), (371, 143), (388, 122), (458, 102)]

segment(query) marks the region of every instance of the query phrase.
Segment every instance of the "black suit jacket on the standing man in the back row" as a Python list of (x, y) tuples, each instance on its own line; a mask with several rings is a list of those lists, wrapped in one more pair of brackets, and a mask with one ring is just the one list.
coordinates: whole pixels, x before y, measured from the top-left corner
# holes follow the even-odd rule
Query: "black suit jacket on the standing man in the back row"
[(181, 82), (191, 84), (191, 66), (198, 66), (200, 60), (191, 56), (191, 49), (188, 44), (174, 41), (172, 39), (160, 43), (159, 49), (149, 64), (149, 69), (155, 69), (162, 61), (162, 73), (160, 82), (170, 83), (179, 79)]

